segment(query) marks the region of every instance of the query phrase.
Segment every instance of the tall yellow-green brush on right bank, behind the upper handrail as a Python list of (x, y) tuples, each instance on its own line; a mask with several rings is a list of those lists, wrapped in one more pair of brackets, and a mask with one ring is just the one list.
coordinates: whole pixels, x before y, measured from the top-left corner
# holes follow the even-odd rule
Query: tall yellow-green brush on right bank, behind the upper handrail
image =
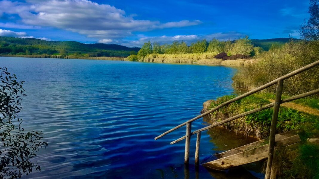
[[(255, 63), (247, 62), (246, 67), (235, 74), (234, 87), (251, 90), (289, 72), (319, 60), (319, 41), (291, 42), (281, 48), (272, 49), (260, 55)], [(286, 79), (286, 95), (305, 93), (319, 88), (319, 67)], [(275, 86), (266, 89), (274, 92)]]

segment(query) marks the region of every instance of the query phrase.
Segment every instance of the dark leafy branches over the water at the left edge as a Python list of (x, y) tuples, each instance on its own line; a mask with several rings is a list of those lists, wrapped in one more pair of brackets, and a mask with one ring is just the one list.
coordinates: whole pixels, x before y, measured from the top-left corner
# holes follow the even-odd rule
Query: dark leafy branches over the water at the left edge
[(0, 71), (0, 178), (20, 178), (33, 169), (40, 170), (31, 159), (37, 156), (40, 147), (48, 144), (41, 141), (41, 131), (26, 132), (22, 119), (17, 118), (22, 110), (21, 97), (25, 96), (24, 81), (18, 82), (7, 68)]

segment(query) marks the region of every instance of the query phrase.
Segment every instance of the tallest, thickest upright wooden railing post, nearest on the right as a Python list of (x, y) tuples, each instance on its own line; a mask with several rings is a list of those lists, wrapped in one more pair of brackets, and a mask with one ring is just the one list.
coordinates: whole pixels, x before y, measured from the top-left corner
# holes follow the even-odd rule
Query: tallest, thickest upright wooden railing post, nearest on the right
[(271, 127), (270, 127), (270, 135), (269, 135), (269, 149), (268, 149), (269, 154), (268, 154), (265, 179), (269, 179), (271, 176), (271, 167), (272, 167), (272, 161), (273, 161), (273, 157), (274, 157), (276, 127), (277, 127), (279, 107), (280, 107), (280, 103), (281, 103), (282, 87), (283, 87), (283, 80), (280, 80), (277, 83), (276, 100), (275, 100), (274, 111), (272, 113), (272, 119), (271, 119)]

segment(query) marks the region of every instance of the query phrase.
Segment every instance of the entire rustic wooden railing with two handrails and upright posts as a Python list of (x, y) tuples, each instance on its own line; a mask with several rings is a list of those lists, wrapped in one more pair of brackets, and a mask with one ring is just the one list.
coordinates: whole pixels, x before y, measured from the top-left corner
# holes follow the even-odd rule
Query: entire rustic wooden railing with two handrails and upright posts
[[(201, 115), (198, 115), (166, 132), (164, 132), (163, 134), (160, 134), (159, 136), (155, 137), (155, 140), (163, 137), (164, 135), (166, 134), (169, 134), (171, 132), (173, 132), (174, 130), (182, 127), (182, 126), (185, 126), (186, 125), (186, 135), (182, 136), (181, 138), (175, 140), (175, 141), (172, 141), (171, 144), (174, 144), (176, 142), (179, 142), (179, 141), (182, 141), (183, 139), (186, 139), (185, 141), (185, 155), (184, 155), (184, 163), (185, 164), (188, 164), (189, 163), (189, 145), (190, 145), (190, 137), (191, 135), (194, 135), (194, 134), (197, 134), (197, 141), (196, 141), (196, 151), (195, 151), (195, 165), (198, 165), (199, 164), (199, 144), (200, 144), (200, 136), (201, 136), (201, 132), (202, 131), (205, 131), (207, 129), (210, 129), (212, 127), (216, 127), (216, 126), (219, 126), (221, 124), (224, 124), (226, 122), (229, 122), (229, 121), (232, 121), (232, 120), (235, 120), (235, 119), (238, 119), (240, 117), (243, 117), (243, 116), (246, 116), (248, 114), (252, 114), (252, 113), (256, 113), (258, 111), (262, 111), (264, 109), (267, 109), (267, 108), (270, 108), (270, 107), (274, 107), (274, 110), (273, 110), (273, 114), (272, 114), (272, 120), (271, 120), (271, 129), (270, 129), (270, 136), (269, 136), (269, 156), (268, 156), (268, 161), (267, 161), (267, 169), (266, 169), (266, 179), (268, 179), (270, 177), (270, 172), (271, 172), (271, 166), (272, 166), (272, 159), (273, 159), (273, 153), (274, 153), (274, 143), (275, 143), (275, 131), (276, 131), (276, 126), (277, 126), (277, 119), (278, 119), (278, 112), (279, 112), (279, 107), (280, 107), (280, 104), (282, 103), (286, 103), (286, 102), (289, 102), (289, 101), (293, 101), (293, 100), (297, 100), (297, 99), (300, 99), (300, 98), (304, 98), (304, 97), (307, 97), (307, 96), (311, 96), (311, 95), (314, 95), (314, 94), (318, 94), (319, 93), (319, 89), (315, 89), (313, 91), (310, 91), (310, 92), (307, 92), (307, 93), (302, 93), (302, 94), (299, 94), (299, 95), (296, 95), (296, 96), (293, 96), (293, 97), (289, 97), (289, 98), (286, 98), (286, 99), (283, 99), (281, 100), (281, 94), (282, 94), (282, 89), (283, 89), (283, 81), (289, 77), (292, 77), (294, 75), (297, 75), (301, 72), (304, 72), (310, 68), (313, 68), (315, 66), (319, 65), (319, 60), (318, 61), (315, 61), (309, 65), (306, 65), (304, 67), (301, 67), (299, 68), (298, 70), (295, 70), (293, 72), (290, 72), (282, 77), (279, 77), (267, 84), (264, 84), (262, 86), (259, 86), (247, 93), (244, 93), (240, 96), (237, 96), (236, 98), (233, 98), (231, 100), (228, 100), (220, 105), (218, 105), (217, 107), (214, 107), (213, 109), (201, 114)], [(207, 126), (207, 127), (203, 127), (201, 129), (198, 129), (198, 130), (195, 130), (194, 132), (191, 132), (191, 126), (192, 126), (192, 122), (197, 120), (197, 119), (200, 119), (208, 114), (211, 114), (212, 112), (214, 111), (217, 111), (219, 110), (220, 108), (226, 106), (226, 105), (229, 105), (237, 100), (240, 100), (242, 98), (245, 98), (251, 94), (254, 94), (254, 93), (257, 93), (263, 89), (266, 89), (274, 84), (277, 83), (277, 90), (276, 90), (276, 99), (275, 99), (275, 102), (273, 103), (270, 103), (268, 105), (265, 105), (263, 107), (260, 107), (260, 108), (256, 108), (256, 109), (253, 109), (253, 110), (250, 110), (250, 111), (247, 111), (247, 112), (244, 112), (244, 113), (241, 113), (241, 114), (238, 114), (238, 115), (235, 115), (233, 117), (230, 117), (226, 120), (222, 120), (222, 121), (219, 121), (219, 122), (216, 122), (210, 126)]]

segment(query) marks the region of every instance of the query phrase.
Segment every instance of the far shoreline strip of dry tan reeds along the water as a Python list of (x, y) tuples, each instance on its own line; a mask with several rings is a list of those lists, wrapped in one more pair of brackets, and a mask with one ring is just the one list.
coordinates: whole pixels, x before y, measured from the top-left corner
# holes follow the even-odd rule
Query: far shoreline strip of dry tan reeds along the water
[[(72, 55), (0, 55), (0, 57), (15, 57), (15, 58), (44, 58), (44, 59), (86, 59), (86, 60), (114, 60), (114, 61), (129, 61), (123, 57), (76, 57)], [(145, 58), (137, 62), (145, 63), (165, 63), (165, 64), (188, 64), (188, 65), (209, 65), (209, 66), (246, 66), (254, 63), (256, 59), (236, 59), (236, 60), (221, 60), (221, 59), (166, 59), (166, 58)]]

